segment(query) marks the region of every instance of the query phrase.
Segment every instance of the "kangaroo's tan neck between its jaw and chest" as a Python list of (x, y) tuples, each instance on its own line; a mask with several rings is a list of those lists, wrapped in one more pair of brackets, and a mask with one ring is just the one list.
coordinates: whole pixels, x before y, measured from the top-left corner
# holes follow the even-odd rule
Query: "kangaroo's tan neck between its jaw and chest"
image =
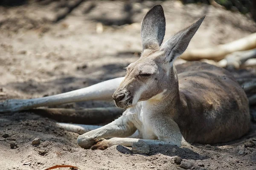
[(168, 88), (163, 89), (160, 94), (145, 101), (143, 104), (145, 107), (158, 113), (176, 112), (180, 108), (179, 82), (174, 65), (169, 72), (169, 79), (166, 81), (172, 83), (169, 83)]

